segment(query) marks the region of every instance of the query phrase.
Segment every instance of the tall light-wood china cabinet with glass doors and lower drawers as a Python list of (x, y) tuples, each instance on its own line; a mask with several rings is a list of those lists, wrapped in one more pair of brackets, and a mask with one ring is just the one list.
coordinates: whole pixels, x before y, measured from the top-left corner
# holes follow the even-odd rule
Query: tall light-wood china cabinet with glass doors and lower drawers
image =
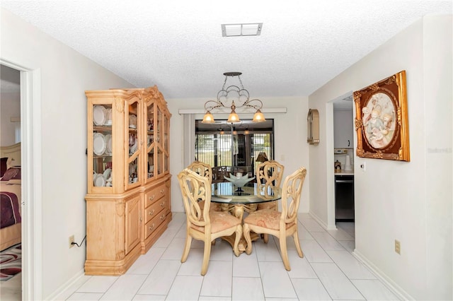
[(85, 273), (121, 275), (171, 220), (171, 114), (156, 85), (86, 98)]

